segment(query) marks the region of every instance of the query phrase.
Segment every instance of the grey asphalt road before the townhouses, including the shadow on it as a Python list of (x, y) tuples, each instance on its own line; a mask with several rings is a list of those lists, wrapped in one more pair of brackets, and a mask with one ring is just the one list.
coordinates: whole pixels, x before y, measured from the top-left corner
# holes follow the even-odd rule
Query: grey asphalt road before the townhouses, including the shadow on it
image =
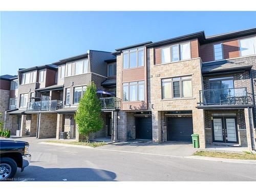
[(17, 181), (256, 181), (256, 165), (30, 142)]

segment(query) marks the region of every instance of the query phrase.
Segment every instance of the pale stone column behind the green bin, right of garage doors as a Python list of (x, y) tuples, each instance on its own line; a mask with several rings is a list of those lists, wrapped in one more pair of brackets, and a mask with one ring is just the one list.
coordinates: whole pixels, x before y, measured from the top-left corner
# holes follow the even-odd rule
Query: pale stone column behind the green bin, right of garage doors
[(204, 110), (194, 109), (192, 113), (193, 133), (199, 135), (199, 147), (205, 148)]

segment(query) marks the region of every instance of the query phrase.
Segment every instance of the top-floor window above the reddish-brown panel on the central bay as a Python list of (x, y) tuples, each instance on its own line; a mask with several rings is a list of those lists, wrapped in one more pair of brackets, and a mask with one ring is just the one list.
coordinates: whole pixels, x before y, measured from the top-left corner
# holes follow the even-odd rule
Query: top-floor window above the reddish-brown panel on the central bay
[(144, 48), (123, 51), (123, 69), (144, 66)]

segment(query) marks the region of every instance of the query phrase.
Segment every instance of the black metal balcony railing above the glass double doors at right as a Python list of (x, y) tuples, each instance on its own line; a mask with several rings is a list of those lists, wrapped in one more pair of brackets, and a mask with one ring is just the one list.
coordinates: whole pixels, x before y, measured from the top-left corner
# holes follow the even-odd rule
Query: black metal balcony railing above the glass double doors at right
[(252, 101), (246, 88), (201, 90), (199, 97), (199, 105), (244, 105)]

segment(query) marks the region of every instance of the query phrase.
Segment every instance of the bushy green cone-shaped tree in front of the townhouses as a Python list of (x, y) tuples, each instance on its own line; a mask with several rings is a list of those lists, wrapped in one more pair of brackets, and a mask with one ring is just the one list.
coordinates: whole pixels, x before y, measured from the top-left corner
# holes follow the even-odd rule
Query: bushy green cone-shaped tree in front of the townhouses
[(96, 86), (94, 82), (88, 84), (86, 92), (79, 100), (78, 108), (75, 113), (75, 121), (78, 125), (79, 134), (86, 137), (89, 142), (89, 134), (97, 132), (103, 127), (101, 118), (101, 102), (96, 94)]

